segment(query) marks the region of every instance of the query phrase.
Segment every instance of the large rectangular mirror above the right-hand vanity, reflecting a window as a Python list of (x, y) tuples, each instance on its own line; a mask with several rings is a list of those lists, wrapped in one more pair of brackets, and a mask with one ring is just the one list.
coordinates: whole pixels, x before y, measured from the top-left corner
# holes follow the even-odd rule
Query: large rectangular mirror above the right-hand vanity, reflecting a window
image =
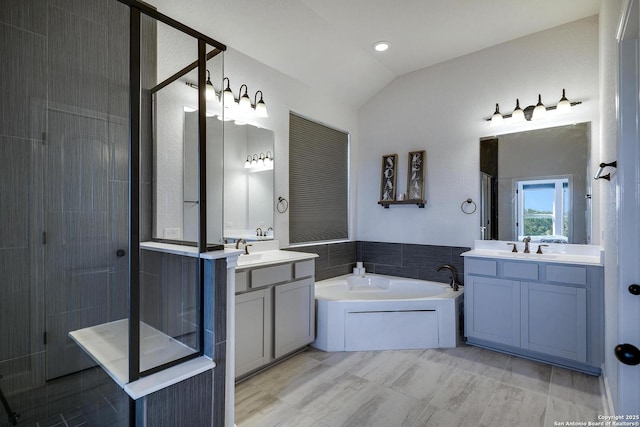
[(590, 124), (480, 139), (481, 239), (591, 243)]

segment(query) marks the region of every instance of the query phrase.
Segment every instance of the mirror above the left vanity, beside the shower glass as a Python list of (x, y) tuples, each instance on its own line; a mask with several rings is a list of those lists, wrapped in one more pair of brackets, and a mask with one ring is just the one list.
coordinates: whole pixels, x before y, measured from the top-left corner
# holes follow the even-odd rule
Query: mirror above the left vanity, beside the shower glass
[[(198, 210), (196, 174), (198, 112), (184, 113), (184, 240), (197, 238)], [(224, 149), (220, 135), (224, 126)], [(216, 138), (218, 136), (218, 138)], [(223, 200), (222, 206), (207, 205), (207, 240), (233, 243), (238, 239), (273, 239), (273, 132), (249, 124), (238, 125), (207, 117), (207, 191), (208, 200)], [(224, 163), (220, 160), (224, 157)], [(245, 167), (247, 158), (256, 160)], [(262, 158), (262, 159), (261, 159)], [(223, 174), (216, 169), (223, 170)], [(223, 182), (220, 185), (212, 185)], [(220, 220), (222, 218), (222, 221)], [(224, 228), (222, 227), (224, 221)]]

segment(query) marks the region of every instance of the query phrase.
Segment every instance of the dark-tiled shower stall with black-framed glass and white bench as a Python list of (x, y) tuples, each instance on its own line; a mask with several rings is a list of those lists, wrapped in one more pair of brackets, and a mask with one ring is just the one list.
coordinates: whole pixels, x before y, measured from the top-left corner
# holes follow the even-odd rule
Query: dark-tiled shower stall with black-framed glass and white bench
[[(136, 0), (3, 2), (0, 426), (225, 422), (229, 263), (206, 254), (222, 200), (207, 198), (221, 166), (207, 167), (205, 120), (225, 49)], [(195, 241), (153, 231), (187, 191), (167, 167), (196, 174)]]

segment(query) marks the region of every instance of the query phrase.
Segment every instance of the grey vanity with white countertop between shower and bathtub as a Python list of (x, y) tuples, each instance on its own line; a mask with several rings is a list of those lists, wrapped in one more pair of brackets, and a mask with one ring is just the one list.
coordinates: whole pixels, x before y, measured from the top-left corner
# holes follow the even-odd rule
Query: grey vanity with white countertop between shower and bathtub
[[(275, 245), (277, 248), (277, 242)], [(316, 254), (281, 250), (239, 257), (235, 296), (236, 378), (314, 340), (315, 257)]]

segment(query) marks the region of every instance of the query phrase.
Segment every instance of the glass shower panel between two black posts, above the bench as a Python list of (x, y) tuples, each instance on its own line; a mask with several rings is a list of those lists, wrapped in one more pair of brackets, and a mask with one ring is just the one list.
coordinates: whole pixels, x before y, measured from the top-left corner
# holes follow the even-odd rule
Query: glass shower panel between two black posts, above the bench
[[(145, 215), (150, 220), (140, 250), (139, 355), (144, 375), (201, 349), (198, 216), (188, 209), (197, 212), (199, 205), (197, 183), (190, 182), (193, 174), (197, 177), (198, 156), (184, 144), (186, 133), (198, 133), (197, 120), (187, 116), (197, 109), (198, 91), (185, 84), (187, 76), (175, 78), (197, 60), (198, 41), (160, 22), (142, 28), (148, 33), (142, 36), (147, 59), (142, 61), (140, 206), (141, 220)], [(150, 249), (149, 241), (156, 246)]]

